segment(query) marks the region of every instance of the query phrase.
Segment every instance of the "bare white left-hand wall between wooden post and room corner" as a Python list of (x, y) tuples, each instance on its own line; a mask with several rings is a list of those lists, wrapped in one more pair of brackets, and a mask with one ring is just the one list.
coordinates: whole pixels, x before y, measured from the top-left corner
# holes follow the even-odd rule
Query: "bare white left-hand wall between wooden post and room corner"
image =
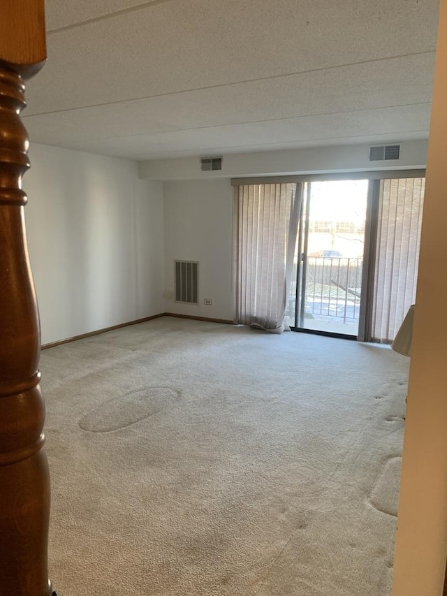
[(137, 163), (32, 145), (23, 187), (42, 342), (163, 311), (163, 189)]

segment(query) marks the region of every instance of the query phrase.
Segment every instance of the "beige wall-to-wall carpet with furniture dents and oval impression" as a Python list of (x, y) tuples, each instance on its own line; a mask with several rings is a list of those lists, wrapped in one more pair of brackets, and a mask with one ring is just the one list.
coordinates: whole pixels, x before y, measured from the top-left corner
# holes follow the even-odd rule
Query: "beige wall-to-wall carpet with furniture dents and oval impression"
[(59, 596), (385, 596), (408, 360), (165, 317), (43, 351)]

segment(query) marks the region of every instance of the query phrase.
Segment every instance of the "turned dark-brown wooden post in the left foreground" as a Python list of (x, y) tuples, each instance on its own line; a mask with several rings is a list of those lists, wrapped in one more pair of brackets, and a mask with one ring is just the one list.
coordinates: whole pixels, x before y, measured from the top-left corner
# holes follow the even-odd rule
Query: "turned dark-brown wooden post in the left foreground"
[(48, 596), (50, 478), (40, 326), (24, 231), (23, 80), (46, 58), (43, 0), (0, 0), (0, 596)]

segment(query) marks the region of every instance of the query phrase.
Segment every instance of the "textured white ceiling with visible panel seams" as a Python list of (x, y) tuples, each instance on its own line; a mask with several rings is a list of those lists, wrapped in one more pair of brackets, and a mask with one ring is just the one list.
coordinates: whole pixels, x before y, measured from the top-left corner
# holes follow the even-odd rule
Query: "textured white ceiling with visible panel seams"
[(31, 142), (132, 159), (426, 138), (439, 0), (47, 0)]

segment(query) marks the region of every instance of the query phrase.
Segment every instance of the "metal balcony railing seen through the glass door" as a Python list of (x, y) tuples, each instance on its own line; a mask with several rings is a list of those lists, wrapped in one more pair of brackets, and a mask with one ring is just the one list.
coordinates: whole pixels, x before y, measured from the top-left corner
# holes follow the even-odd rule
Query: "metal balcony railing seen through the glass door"
[(307, 257), (305, 314), (358, 321), (363, 259)]

